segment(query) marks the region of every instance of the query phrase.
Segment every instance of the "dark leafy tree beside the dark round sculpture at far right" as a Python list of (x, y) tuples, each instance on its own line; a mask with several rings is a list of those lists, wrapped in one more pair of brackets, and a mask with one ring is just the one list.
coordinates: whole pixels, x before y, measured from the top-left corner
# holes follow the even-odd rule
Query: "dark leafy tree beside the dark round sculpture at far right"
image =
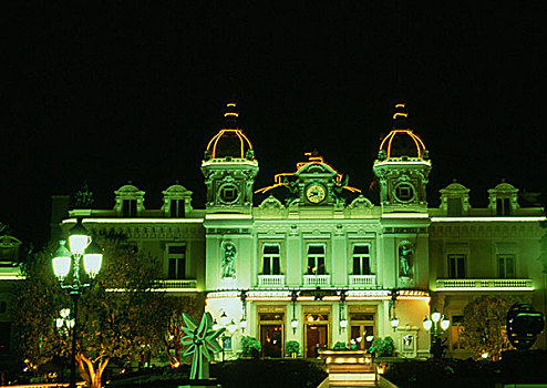
[(509, 348), (505, 318), (515, 302), (509, 296), (487, 295), (469, 302), (463, 312), (464, 347), (475, 357), (499, 359), (502, 351)]

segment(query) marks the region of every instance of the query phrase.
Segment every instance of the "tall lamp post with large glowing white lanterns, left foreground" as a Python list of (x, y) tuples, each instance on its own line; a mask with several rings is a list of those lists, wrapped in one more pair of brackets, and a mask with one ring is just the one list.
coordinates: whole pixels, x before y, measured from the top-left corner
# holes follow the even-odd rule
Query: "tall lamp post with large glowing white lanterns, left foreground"
[[(92, 242), (87, 229), (82, 225), (79, 218), (76, 225), (69, 232), (69, 248), (65, 246), (66, 241), (59, 242), (59, 248), (55, 251), (52, 259), (53, 272), (61, 283), (61, 288), (68, 290), (73, 304), (72, 329), (72, 350), (70, 365), (70, 388), (76, 387), (76, 330), (78, 330), (78, 300), (85, 287), (91, 283), (83, 283), (80, 279), (80, 261), (83, 257), (85, 273), (91, 280), (95, 278), (101, 269), (103, 254), (99, 245)], [(72, 266), (71, 266), (72, 264)], [(72, 282), (65, 284), (64, 280), (72, 269)]]

